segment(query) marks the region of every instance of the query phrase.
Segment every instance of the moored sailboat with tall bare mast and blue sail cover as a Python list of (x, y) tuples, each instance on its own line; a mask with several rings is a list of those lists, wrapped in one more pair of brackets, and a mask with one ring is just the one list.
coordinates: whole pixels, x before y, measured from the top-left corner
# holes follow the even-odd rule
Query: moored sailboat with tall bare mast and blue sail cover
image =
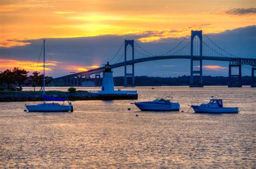
[[(64, 105), (64, 102), (66, 101), (65, 98), (52, 98), (45, 95), (45, 40), (43, 43), (43, 48), (44, 48), (43, 103), (37, 104), (37, 105), (25, 104), (25, 107), (29, 112), (65, 112), (65, 111), (73, 112), (73, 106), (71, 102), (69, 102), (69, 100), (67, 100), (69, 104)], [(63, 104), (45, 103), (45, 101), (63, 102)]]

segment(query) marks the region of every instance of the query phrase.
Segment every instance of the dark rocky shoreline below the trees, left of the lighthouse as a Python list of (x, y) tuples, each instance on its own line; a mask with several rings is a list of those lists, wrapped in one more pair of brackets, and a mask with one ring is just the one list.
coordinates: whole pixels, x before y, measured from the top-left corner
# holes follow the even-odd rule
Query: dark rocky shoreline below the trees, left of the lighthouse
[[(62, 91), (46, 91), (46, 96), (66, 98), (68, 100), (97, 100), (102, 99), (97, 93), (87, 91), (62, 92)], [(43, 93), (39, 91), (0, 91), (0, 102), (26, 102), (26, 101), (42, 101)]]

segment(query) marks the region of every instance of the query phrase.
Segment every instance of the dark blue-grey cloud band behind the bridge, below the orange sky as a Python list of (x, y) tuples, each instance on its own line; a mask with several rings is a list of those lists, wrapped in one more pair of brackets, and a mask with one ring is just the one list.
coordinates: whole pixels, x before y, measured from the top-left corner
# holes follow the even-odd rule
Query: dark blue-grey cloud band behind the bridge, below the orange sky
[[(51, 38), (46, 39), (46, 60), (53, 60), (62, 62), (55, 67), (51, 72), (51, 76), (58, 77), (69, 74), (70, 70), (67, 68), (71, 66), (91, 66), (102, 65), (107, 62), (118, 51), (125, 39), (134, 39), (142, 46), (146, 51), (150, 53), (164, 53), (176, 46), (181, 38), (166, 38), (159, 42), (147, 42), (142, 43), (137, 39), (145, 36), (156, 35), (154, 31), (148, 31), (146, 33), (134, 34), (134, 35), (104, 35), (96, 37), (79, 37), (79, 38)], [(256, 56), (256, 26), (247, 26), (245, 28), (239, 28), (234, 30), (227, 30), (221, 33), (209, 34), (216, 44), (226, 51), (238, 55), (241, 57)], [(13, 46), (11, 48), (0, 48), (0, 59), (14, 59), (14, 60), (26, 60), (37, 62), (41, 46), (42, 39), (37, 40), (25, 40), (31, 44), (26, 46)], [(204, 50), (204, 49), (203, 49)], [(207, 61), (204, 60), (204, 65), (219, 65), (227, 67), (227, 62)], [(1, 64), (0, 64), (1, 65)], [(158, 66), (157, 66), (158, 65)], [(174, 65), (174, 66), (163, 66)], [(0, 67), (1, 68), (1, 67)], [(131, 71), (129, 67), (128, 72)], [(148, 75), (148, 76), (183, 76), (190, 73), (190, 60), (170, 59), (170, 60), (156, 60), (151, 62), (138, 63), (135, 65), (136, 75)], [(166, 72), (162, 75), (156, 74), (156, 72)], [(169, 72), (169, 73), (167, 73)], [(247, 74), (246, 74), (247, 73)], [(243, 75), (250, 75), (250, 71), (243, 70)], [(119, 67), (114, 69), (114, 76), (123, 76), (124, 68)], [(228, 76), (228, 71), (214, 71), (204, 70), (204, 75), (214, 76)]]

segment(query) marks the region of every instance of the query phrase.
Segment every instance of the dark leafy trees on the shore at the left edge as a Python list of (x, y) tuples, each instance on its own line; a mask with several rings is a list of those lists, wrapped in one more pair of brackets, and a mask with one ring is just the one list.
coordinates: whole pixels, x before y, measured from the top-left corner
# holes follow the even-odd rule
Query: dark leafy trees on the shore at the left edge
[[(38, 71), (32, 72), (32, 75), (28, 75), (29, 71), (24, 69), (19, 69), (14, 67), (13, 70), (6, 69), (0, 72), (0, 90), (20, 90), (22, 91), (22, 86), (32, 86), (34, 91), (36, 87), (41, 87), (40, 91), (43, 89), (43, 77)], [(52, 78), (45, 77), (45, 85), (52, 82)], [(18, 86), (18, 87), (16, 87)]]

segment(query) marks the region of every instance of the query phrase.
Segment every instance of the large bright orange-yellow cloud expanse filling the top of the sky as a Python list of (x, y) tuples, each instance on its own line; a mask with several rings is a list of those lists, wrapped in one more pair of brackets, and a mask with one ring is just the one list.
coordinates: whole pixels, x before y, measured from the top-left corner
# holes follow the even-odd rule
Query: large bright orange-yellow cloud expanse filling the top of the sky
[[(221, 1), (221, 8), (233, 14), (233, 17), (216, 13), (219, 9), (218, 1), (204, 1), (200, 5), (188, 0), (159, 0), (157, 3), (117, 0), (113, 3), (105, 0), (6, 2), (0, 5), (0, 46), (3, 47), (30, 44), (25, 42), (26, 39), (127, 35), (131, 32), (154, 31), (153, 35), (145, 33), (140, 39), (141, 42), (152, 42), (186, 36), (184, 32), (192, 29), (216, 33), (255, 24), (255, 15), (234, 15), (255, 13), (254, 1)], [(230, 6), (239, 8), (230, 9)], [(178, 31), (165, 31), (170, 28)], [(15, 42), (15, 39), (19, 41)]]

